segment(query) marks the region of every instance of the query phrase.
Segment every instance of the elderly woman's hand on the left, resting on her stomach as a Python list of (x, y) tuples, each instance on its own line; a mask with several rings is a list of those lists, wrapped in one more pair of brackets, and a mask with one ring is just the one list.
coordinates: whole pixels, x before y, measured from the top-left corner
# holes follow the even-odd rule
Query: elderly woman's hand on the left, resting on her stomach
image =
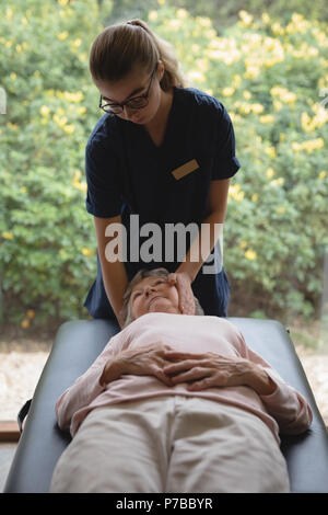
[(174, 351), (163, 342), (154, 342), (138, 348), (127, 348), (106, 363), (99, 382), (102, 386), (119, 379), (120, 376), (131, 374), (133, 376), (155, 376), (166, 386), (174, 386), (172, 379), (163, 373), (163, 368), (172, 365), (164, 357), (166, 351)]

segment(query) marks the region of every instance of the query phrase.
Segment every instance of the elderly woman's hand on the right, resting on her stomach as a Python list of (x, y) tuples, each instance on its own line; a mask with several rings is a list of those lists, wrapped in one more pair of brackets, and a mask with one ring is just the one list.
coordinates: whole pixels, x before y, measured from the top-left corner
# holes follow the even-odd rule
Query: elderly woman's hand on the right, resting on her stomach
[(166, 359), (175, 363), (163, 368), (174, 385), (191, 382), (188, 390), (212, 387), (247, 386), (254, 364), (242, 357), (223, 357), (216, 353), (191, 354), (165, 351)]

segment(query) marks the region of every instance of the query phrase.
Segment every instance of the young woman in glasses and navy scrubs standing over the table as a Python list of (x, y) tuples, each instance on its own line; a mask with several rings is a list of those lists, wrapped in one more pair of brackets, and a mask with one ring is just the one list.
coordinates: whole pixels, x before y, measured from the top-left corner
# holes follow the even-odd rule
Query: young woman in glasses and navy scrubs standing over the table
[[(140, 267), (164, 266), (185, 314), (195, 313), (192, 284), (206, 314), (226, 317), (230, 283), (215, 228), (223, 226), (230, 180), (239, 168), (226, 110), (207, 93), (185, 88), (171, 45), (141, 20), (105, 28), (92, 45), (90, 69), (106, 114), (86, 146), (86, 210), (94, 216), (98, 270), (84, 306), (94, 318), (116, 317), (121, 327), (129, 281)], [(137, 229), (131, 215), (134, 221), (139, 217)], [(150, 222), (161, 229), (153, 261), (138, 253)], [(113, 224), (127, 234), (126, 258), (117, 261), (106, 256), (117, 238)], [(199, 240), (187, 242), (183, 256), (165, 237), (177, 224), (198, 228)], [(208, 242), (206, 256), (191, 258), (192, 241), (199, 249)]]

